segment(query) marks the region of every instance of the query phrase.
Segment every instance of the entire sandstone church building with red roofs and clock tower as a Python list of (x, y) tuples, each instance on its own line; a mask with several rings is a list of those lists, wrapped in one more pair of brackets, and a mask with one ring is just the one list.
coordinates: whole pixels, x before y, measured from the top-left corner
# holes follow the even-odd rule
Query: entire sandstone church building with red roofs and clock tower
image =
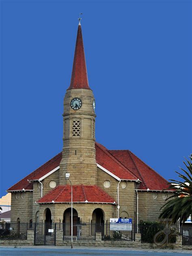
[(72, 77), (64, 96), (63, 149), (7, 190), (11, 220), (103, 223), (110, 218), (155, 221), (171, 190), (166, 179), (129, 150), (95, 141), (95, 99), (87, 79), (81, 24)]

